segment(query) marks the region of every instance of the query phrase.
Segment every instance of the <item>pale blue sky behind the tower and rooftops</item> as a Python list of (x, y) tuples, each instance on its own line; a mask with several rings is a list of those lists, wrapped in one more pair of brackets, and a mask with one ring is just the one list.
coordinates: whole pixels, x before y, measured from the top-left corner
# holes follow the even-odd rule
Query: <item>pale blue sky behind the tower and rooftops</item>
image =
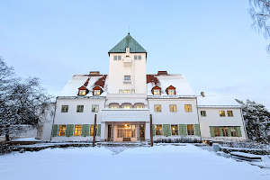
[(130, 25), (148, 51), (148, 74), (184, 74), (196, 94), (231, 94), (270, 110), (267, 41), (250, 29), (248, 7), (248, 0), (1, 1), (0, 56), (57, 96), (75, 74), (108, 74), (108, 51)]

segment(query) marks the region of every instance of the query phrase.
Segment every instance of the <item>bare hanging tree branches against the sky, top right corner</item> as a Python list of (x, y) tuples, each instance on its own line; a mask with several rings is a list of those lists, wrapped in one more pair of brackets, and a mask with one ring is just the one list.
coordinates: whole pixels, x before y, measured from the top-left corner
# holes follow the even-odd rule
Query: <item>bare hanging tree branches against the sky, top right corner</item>
[[(270, 39), (270, 1), (269, 0), (248, 0), (250, 14), (253, 23), (251, 28), (259, 34), (263, 34), (266, 40)], [(266, 46), (266, 51), (270, 53), (270, 44)]]

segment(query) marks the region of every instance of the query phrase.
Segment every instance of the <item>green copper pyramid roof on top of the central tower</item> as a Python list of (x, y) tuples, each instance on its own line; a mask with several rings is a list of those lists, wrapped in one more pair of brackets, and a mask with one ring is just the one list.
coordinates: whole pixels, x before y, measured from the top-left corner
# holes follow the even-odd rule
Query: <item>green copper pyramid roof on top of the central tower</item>
[(146, 49), (143, 49), (139, 43), (134, 40), (131, 36), (130, 33), (122, 39), (116, 46), (114, 46), (108, 53), (113, 53), (113, 52), (126, 52), (126, 48), (130, 48), (130, 52), (147, 52)]

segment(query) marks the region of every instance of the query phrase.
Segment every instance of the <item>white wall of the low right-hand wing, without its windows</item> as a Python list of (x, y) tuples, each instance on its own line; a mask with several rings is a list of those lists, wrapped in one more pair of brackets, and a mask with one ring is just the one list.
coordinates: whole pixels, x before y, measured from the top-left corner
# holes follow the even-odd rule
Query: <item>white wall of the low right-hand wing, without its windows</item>
[[(240, 108), (229, 107), (199, 107), (199, 120), (202, 139), (246, 139), (246, 131), (244, 129), (242, 114)], [(206, 111), (206, 117), (201, 116), (201, 111)], [(225, 112), (225, 117), (220, 117), (220, 111)], [(229, 117), (227, 111), (233, 112), (233, 117)], [(239, 126), (241, 130), (241, 137), (211, 137), (210, 127), (236, 127)]]

